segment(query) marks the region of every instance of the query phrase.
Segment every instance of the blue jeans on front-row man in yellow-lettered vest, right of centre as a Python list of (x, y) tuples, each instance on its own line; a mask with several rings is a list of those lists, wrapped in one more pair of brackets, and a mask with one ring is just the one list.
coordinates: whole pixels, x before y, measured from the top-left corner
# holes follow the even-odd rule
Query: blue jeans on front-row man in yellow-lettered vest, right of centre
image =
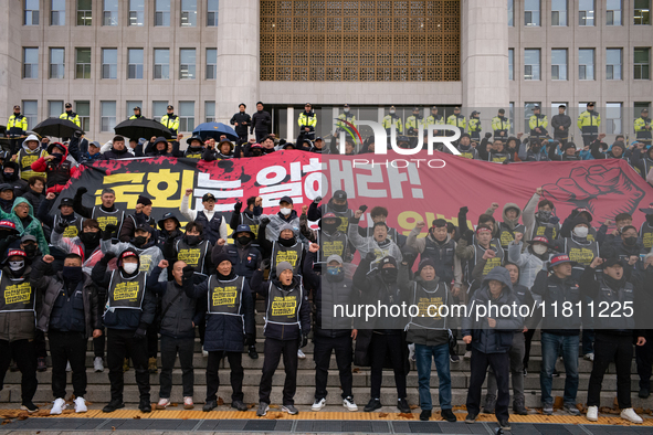
[(415, 344), (415, 360), (418, 364), (420, 407), (431, 411), (431, 358), (435, 361), (440, 386), (440, 409), (451, 410), (451, 372), (449, 370), (449, 343), (440, 346)]

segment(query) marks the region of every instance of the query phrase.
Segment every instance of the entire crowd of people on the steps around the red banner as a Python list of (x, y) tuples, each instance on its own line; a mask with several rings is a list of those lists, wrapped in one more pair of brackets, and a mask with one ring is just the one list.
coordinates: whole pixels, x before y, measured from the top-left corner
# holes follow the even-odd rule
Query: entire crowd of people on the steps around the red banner
[[(642, 423), (631, 403), (631, 361), (634, 353), (639, 396), (646, 399), (651, 390), (653, 335), (634, 318), (617, 323), (611, 318), (588, 318), (580, 305), (573, 305), (576, 311), (566, 318), (543, 318), (541, 311), (527, 318), (514, 314), (481, 319), (420, 315), (397, 318), (391, 323), (380, 319), (360, 322), (330, 312), (336, 304), (361, 300), (389, 305), (407, 300), (421, 307), (501, 307), (514, 303), (530, 306), (537, 301), (545, 309), (568, 301), (594, 300), (631, 301), (644, 309), (653, 308), (649, 297), (653, 295), (653, 204), (641, 209), (645, 222), (639, 229), (632, 225), (630, 214), (596, 222), (587, 209), (576, 209), (560, 221), (554, 213), (555, 204), (537, 189), (526, 204), (504, 204), (498, 219), (494, 213), (499, 204), (492, 203), (487, 210), (475, 211), (481, 214), (478, 222), (468, 227), (470, 211), (462, 206), (457, 226), (442, 219), (430, 225), (418, 222), (408, 236), (387, 224), (389, 211), (382, 203), (369, 211), (373, 224), (365, 225), (360, 221), (368, 208), (352, 210), (343, 190), (333, 192), (326, 203), (316, 198), (301, 209), (289, 197), (283, 197), (280, 211), (267, 215), (263, 214), (259, 197), (239, 201), (230, 216), (215, 210), (215, 197), (211, 193), (202, 197), (201, 208), (192, 210), (192, 189), (186, 191), (179, 204), (181, 219), (177, 210), (170, 210), (156, 221), (152, 202), (145, 197), (138, 198), (135, 210), (125, 210), (112, 189), (102, 191), (99, 205), (85, 206), (85, 187), (77, 188), (74, 198), (62, 199), (53, 209), (77, 165), (83, 162), (140, 156), (183, 156), (211, 161), (288, 148), (327, 152), (337, 144), (338, 135), (334, 135), (329, 147), (319, 137), (309, 138), (317, 121), (310, 115), (310, 105), (299, 116), (303, 129), (292, 147), (280, 144), (270, 130), (259, 137), (257, 126), (268, 117), (261, 114), (263, 105), (259, 105), (255, 119), (245, 114), (244, 104), (232, 118), (240, 136), (235, 144), (228, 138), (203, 140), (193, 136), (181, 151), (182, 135), (173, 141), (155, 137), (131, 139), (128, 145), (120, 136), (101, 145), (82, 135), (74, 135), (64, 144), (30, 135), (20, 147), (0, 156), (0, 373), (4, 378), (10, 367), (21, 371), (22, 409), (38, 411), (32, 399), (38, 388), (36, 371), (48, 369), (45, 335), (52, 365), (51, 414), (61, 414), (67, 406), (66, 370), (72, 371), (74, 409), (78, 413), (86, 411), (85, 356), (89, 338), (94, 370), (102, 372), (105, 364), (108, 367), (110, 397), (104, 412), (125, 406), (124, 372), (129, 370), (129, 361), (136, 372), (139, 410), (151, 411), (149, 373), (159, 369), (156, 407), (169, 406), (177, 356), (182, 371), (183, 406), (192, 409), (197, 327), (208, 358), (203, 411), (218, 406), (219, 363), (224, 358), (231, 373), (231, 406), (246, 411), (242, 354), (244, 351), (249, 358), (259, 358), (254, 319), (255, 300), (261, 298), (265, 300), (265, 346), (259, 416), (270, 409), (272, 379), (282, 357), (282, 411), (297, 414), (297, 361), (305, 358), (302, 348), (310, 337), (315, 360), (312, 411), (326, 405), (329, 361), (335, 353), (343, 405), (348, 411), (358, 410), (352, 394), (352, 364), (370, 367), (370, 399), (365, 412), (382, 407), (382, 370), (389, 365), (394, 374), (396, 406), (410, 413), (407, 373), (409, 361), (413, 360), (419, 376), (420, 418), (430, 420), (434, 361), (441, 416), (454, 422), (451, 364), (461, 360), (460, 337), (465, 343), (463, 358), (471, 362), (465, 421), (473, 423), (481, 412), (494, 413), (499, 425), (509, 428), (509, 382), (512, 379), (513, 412), (527, 414), (524, 378), (534, 333), (541, 329), (539, 378), (544, 414), (554, 412), (552, 378), (558, 374), (555, 363), (561, 356), (566, 412), (580, 414), (579, 358), (593, 363), (586, 414), (590, 421), (598, 420), (602, 380), (609, 363), (615, 362), (621, 416)], [(166, 123), (177, 134), (172, 110), (169, 106)], [(472, 123), (473, 116), (468, 123), (471, 132), (462, 135), (459, 149), (463, 157), (497, 162), (578, 160), (580, 156), (569, 151), (576, 150), (573, 144), (558, 132), (569, 124), (562, 119), (564, 110), (561, 107), (561, 118), (551, 123), (556, 130), (550, 141), (548, 124), (537, 112), (527, 139), (515, 138), (512, 142), (506, 137), (509, 127), (503, 119), (492, 145), (488, 137), (481, 139), (476, 135), (481, 129), (478, 123)], [(435, 108), (433, 112), (434, 119), (441, 120)], [(589, 113), (592, 123), (594, 115)], [(497, 118), (503, 116), (501, 112), (498, 115)], [(453, 121), (460, 123), (460, 109), (453, 117)], [(586, 119), (584, 115), (581, 117)], [(355, 121), (347, 116), (343, 120)], [(404, 126), (412, 129), (409, 134), (421, 121), (407, 119)], [(579, 126), (584, 123), (579, 120)], [(345, 127), (346, 124), (338, 126)], [(250, 141), (246, 136), (252, 129), (257, 138)], [(591, 134), (587, 135), (586, 146), (594, 158), (629, 158), (646, 177), (653, 156), (645, 138), (640, 138), (632, 149), (618, 138), (605, 153), (601, 141), (604, 136), (598, 130)], [(411, 146), (410, 140), (406, 142)], [(355, 142), (348, 144), (348, 150), (354, 152)], [(365, 147), (372, 151), (373, 138), (368, 138)], [(562, 155), (557, 152), (560, 147)], [(319, 222), (319, 230), (310, 229), (309, 221)], [(355, 258), (358, 264), (352, 263)]]

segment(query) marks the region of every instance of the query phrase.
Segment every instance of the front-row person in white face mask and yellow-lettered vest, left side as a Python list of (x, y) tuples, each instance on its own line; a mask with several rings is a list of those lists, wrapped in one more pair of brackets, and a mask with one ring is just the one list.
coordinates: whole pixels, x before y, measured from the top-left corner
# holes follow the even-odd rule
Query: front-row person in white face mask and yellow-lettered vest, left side
[(112, 401), (102, 410), (114, 412), (125, 407), (123, 364), (129, 354), (136, 369), (136, 383), (140, 393), (138, 409), (151, 411), (149, 401), (149, 374), (147, 371), (147, 327), (154, 321), (156, 299), (146, 289), (146, 273), (140, 272), (138, 253), (126, 250), (118, 255), (118, 268), (107, 272), (113, 253), (106, 253), (93, 268), (93, 282), (107, 289), (104, 325), (107, 328), (107, 356)]

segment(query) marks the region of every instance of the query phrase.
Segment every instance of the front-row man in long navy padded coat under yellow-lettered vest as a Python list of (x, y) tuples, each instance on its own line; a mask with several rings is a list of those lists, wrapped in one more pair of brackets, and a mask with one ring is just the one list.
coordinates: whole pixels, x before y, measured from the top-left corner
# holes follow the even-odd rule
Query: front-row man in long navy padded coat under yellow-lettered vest
[[(243, 343), (254, 340), (254, 303), (247, 280), (239, 276), (228, 254), (215, 256), (215, 269), (209, 279), (188, 288), (186, 295), (192, 298), (207, 298), (207, 341), (209, 351), (207, 362), (207, 402), (203, 411), (218, 406), (220, 360), (227, 357), (231, 369), (231, 407), (247, 411), (243, 399), (242, 365)], [(243, 333), (244, 331), (244, 333)], [(265, 347), (267, 349), (267, 346)], [(285, 362), (285, 359), (284, 359)], [(278, 360), (277, 360), (278, 364)], [(276, 368), (276, 367), (275, 367)], [(286, 370), (287, 370), (286, 365)], [(263, 369), (265, 373), (265, 369)]]

